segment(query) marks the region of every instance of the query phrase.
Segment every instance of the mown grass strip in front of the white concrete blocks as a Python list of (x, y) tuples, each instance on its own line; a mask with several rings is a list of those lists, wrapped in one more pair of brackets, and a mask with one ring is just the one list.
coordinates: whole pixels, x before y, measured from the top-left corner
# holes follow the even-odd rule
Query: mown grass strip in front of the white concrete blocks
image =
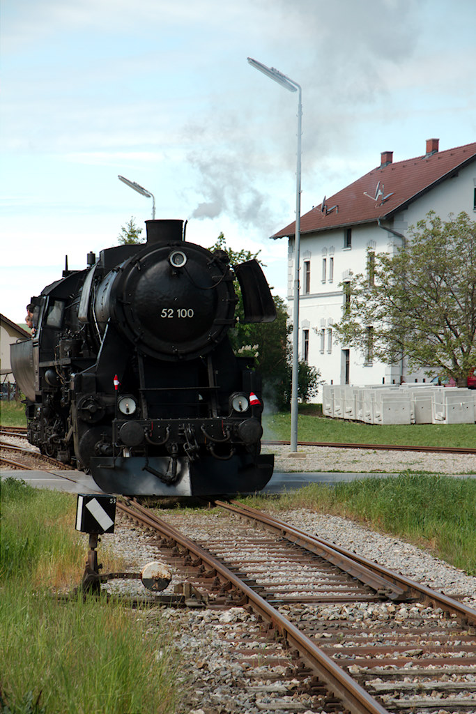
[[(290, 436), (288, 413), (263, 416), (264, 439)], [(299, 441), (476, 447), (475, 424), (364, 424), (300, 413)]]

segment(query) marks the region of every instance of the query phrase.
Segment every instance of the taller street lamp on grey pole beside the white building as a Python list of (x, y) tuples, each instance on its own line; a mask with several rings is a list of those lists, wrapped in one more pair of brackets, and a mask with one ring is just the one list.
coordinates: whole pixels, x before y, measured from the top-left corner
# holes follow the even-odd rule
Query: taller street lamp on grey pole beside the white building
[(294, 300), (293, 300), (293, 373), (291, 381), (291, 444), (292, 452), (298, 451), (298, 369), (299, 369), (299, 250), (300, 250), (300, 196), (301, 196), (301, 119), (303, 106), (301, 104), (301, 87), (298, 82), (290, 79), (275, 67), (248, 57), (248, 62), (266, 76), (278, 82), (288, 91), (298, 91), (298, 164), (296, 169), (296, 231), (295, 231), (295, 263), (294, 263)]

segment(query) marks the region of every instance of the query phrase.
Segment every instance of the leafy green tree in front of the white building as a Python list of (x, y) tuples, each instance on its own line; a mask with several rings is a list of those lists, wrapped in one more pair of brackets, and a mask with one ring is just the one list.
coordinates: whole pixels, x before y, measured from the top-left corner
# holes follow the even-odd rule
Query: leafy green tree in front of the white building
[(393, 256), (369, 253), (367, 275), (349, 288), (340, 341), (466, 385), (476, 364), (476, 221), (467, 213), (443, 222), (430, 211)]

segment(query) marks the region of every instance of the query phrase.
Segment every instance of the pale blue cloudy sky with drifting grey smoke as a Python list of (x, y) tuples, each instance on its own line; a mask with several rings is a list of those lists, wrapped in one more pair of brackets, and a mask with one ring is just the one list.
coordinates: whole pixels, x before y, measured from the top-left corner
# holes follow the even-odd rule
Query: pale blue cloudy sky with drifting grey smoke
[(25, 306), (131, 218), (265, 264), (285, 297), (295, 219), (380, 164), (476, 141), (475, 0), (2, 0), (0, 312)]

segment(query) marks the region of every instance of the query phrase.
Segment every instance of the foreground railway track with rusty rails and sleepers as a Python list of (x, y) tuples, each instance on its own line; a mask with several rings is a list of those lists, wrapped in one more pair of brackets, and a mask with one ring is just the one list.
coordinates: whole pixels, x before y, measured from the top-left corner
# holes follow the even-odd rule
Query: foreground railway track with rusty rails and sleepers
[(186, 533), (138, 503), (119, 508), (159, 534), (210, 607), (253, 610), (298, 653), (310, 710), (476, 712), (476, 610), (260, 511), (216, 505), (219, 526), (184, 521)]

